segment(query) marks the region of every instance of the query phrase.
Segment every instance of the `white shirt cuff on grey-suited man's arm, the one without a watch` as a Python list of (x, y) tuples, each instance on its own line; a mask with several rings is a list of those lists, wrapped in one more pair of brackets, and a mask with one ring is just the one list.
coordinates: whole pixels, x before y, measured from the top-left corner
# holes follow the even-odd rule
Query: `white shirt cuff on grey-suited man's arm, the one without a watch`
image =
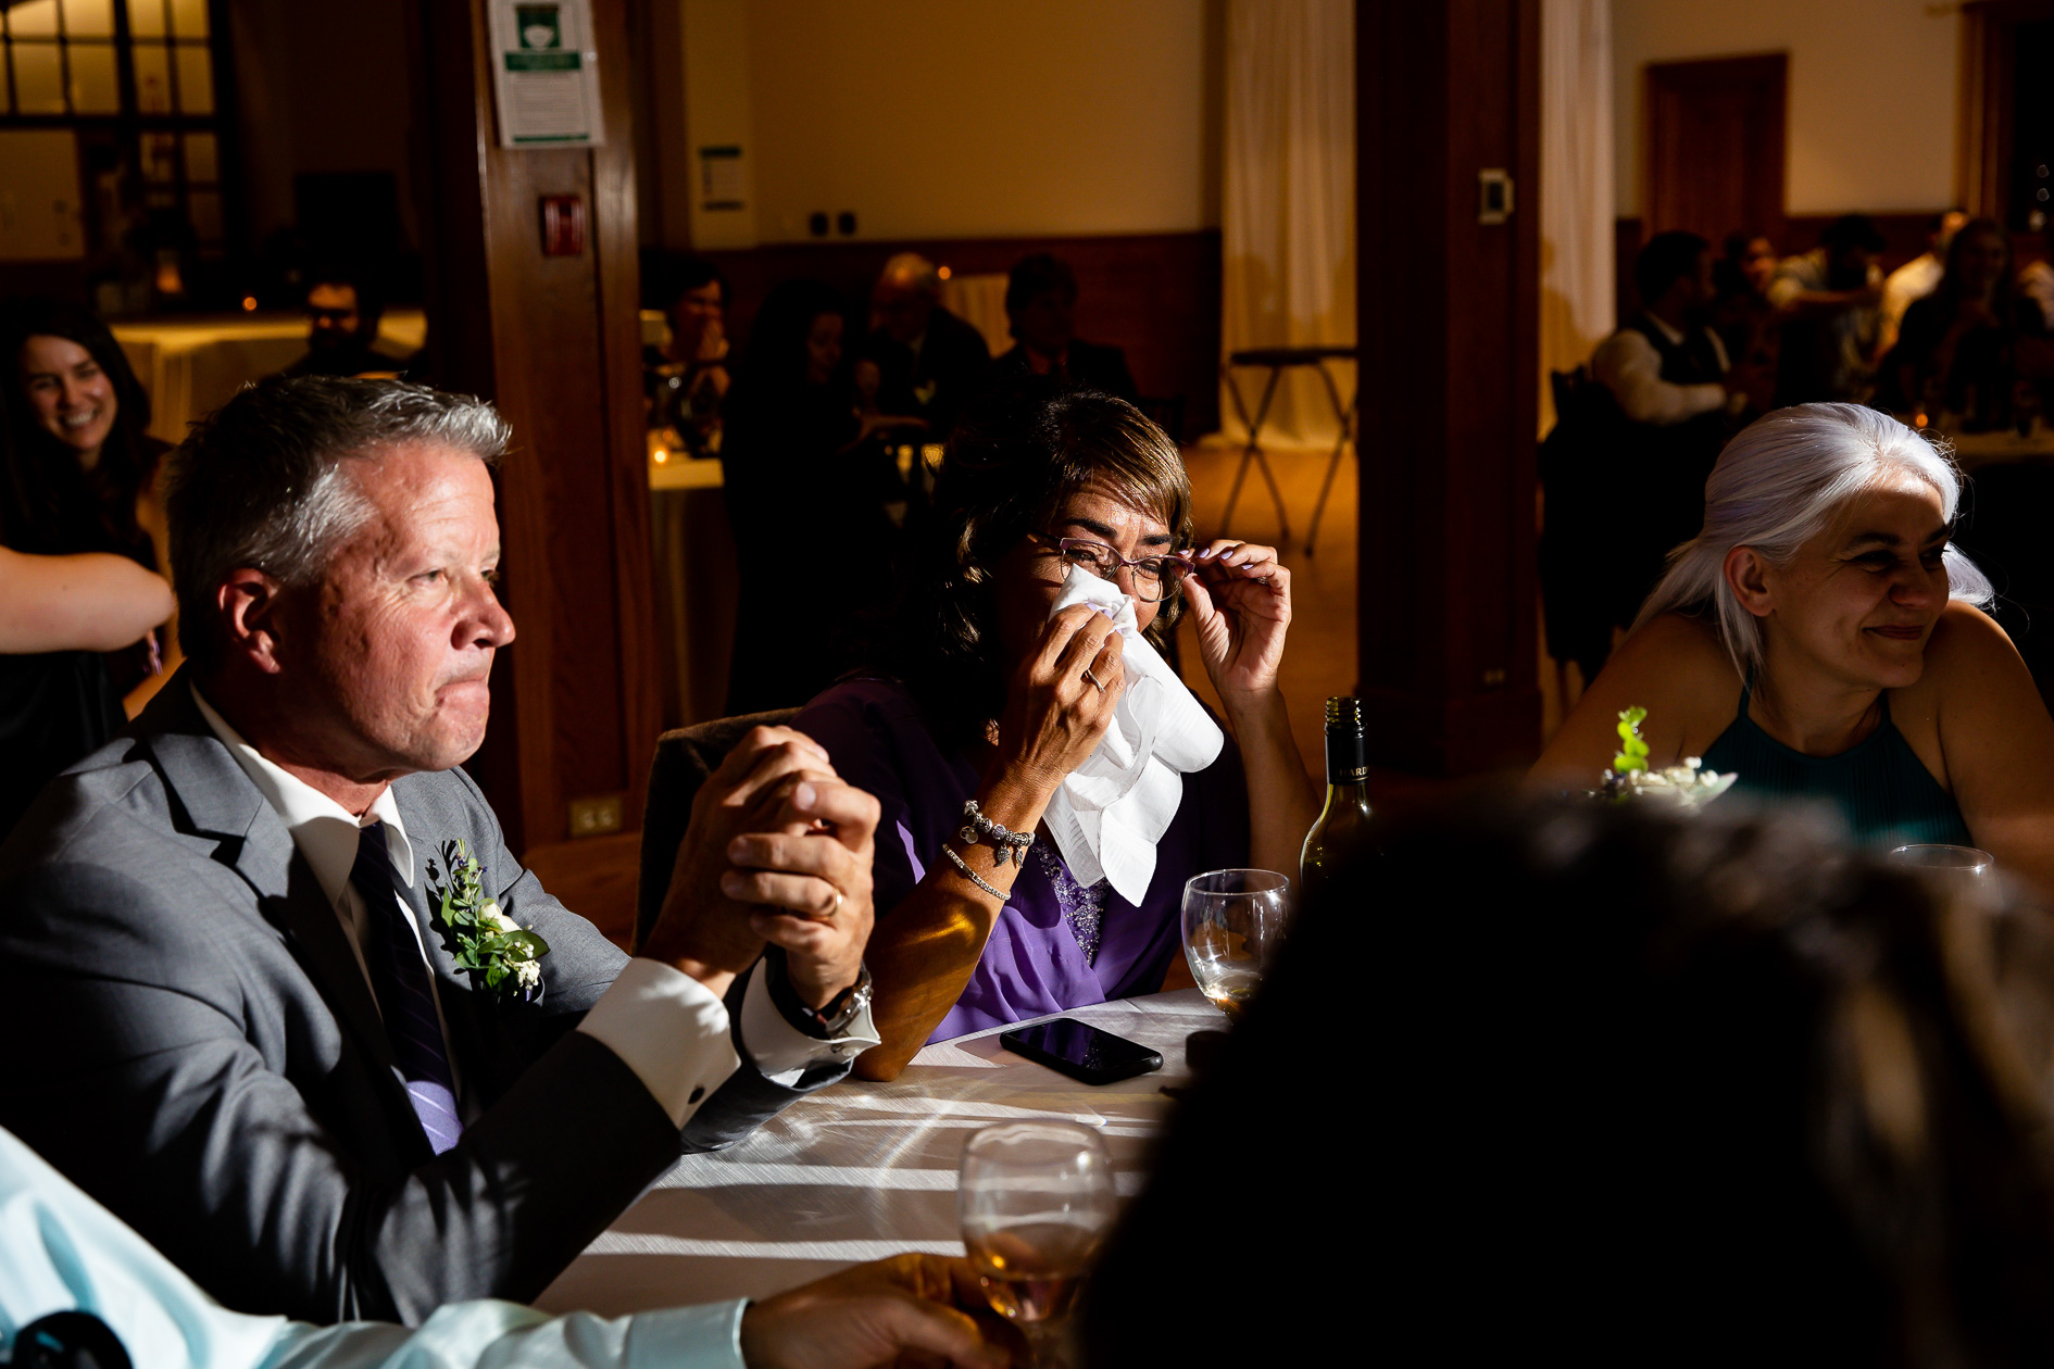
[(680, 1129), (741, 1065), (713, 989), (645, 956), (622, 967), (577, 1030), (626, 1061)]

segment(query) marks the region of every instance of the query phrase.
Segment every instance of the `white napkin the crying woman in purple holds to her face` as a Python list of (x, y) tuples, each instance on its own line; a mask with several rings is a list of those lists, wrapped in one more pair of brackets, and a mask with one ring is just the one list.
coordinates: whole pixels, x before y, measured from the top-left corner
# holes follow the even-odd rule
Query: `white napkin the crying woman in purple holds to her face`
[(1119, 585), (1070, 566), (1050, 616), (1072, 603), (1099, 605), (1126, 638), (1119, 663), (1128, 688), (1099, 749), (1070, 772), (1041, 821), (1078, 885), (1105, 878), (1121, 899), (1140, 903), (1154, 878), (1154, 846), (1183, 803), (1183, 776), (1210, 766), (1226, 737), (1142, 636), (1134, 599)]

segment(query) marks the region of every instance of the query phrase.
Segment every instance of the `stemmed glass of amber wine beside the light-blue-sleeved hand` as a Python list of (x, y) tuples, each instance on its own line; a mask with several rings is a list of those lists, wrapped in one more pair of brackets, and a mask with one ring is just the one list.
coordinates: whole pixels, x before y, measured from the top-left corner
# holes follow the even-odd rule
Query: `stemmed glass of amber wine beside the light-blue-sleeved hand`
[(1000, 1123), (963, 1145), (963, 1248), (986, 1301), (1025, 1332), (1037, 1365), (1062, 1363), (1064, 1318), (1115, 1211), (1113, 1162), (1087, 1127)]

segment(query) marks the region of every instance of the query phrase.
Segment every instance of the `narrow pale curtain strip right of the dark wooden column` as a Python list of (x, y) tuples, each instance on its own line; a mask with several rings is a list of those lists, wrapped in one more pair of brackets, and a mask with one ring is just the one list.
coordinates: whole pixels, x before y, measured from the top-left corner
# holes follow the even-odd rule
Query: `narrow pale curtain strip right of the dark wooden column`
[(1540, 431), (1549, 371), (1590, 359), (1616, 320), (1612, 0), (1540, 0)]

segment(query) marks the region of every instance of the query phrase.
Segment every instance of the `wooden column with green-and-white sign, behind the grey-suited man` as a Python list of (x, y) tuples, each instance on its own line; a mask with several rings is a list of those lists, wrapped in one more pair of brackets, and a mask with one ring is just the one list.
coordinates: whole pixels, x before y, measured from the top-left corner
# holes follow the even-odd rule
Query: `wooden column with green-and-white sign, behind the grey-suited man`
[[(429, 371), (514, 425), (499, 470), (501, 595), (470, 772), (514, 850), (571, 835), (571, 805), (641, 825), (659, 729), (637, 318), (626, 0), (592, 0), (606, 144), (505, 150), (483, 0), (419, 0)], [(585, 244), (542, 252), (544, 195), (577, 195)]]

